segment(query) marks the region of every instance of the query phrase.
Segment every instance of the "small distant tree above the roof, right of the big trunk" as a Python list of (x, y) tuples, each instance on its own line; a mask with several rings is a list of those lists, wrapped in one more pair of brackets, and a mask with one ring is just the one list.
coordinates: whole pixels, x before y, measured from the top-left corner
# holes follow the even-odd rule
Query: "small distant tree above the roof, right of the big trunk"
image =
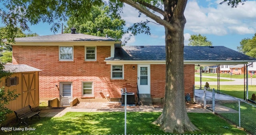
[(188, 46), (212, 46), (212, 42), (207, 40), (206, 36), (202, 36), (201, 34), (191, 35), (188, 41)]

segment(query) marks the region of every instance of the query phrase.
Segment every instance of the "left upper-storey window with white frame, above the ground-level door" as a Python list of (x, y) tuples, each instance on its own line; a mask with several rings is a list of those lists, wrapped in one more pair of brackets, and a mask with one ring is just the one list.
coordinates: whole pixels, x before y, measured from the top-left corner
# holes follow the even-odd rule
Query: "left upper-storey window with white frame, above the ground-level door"
[(73, 60), (73, 47), (72, 46), (60, 46), (59, 58), (60, 60)]

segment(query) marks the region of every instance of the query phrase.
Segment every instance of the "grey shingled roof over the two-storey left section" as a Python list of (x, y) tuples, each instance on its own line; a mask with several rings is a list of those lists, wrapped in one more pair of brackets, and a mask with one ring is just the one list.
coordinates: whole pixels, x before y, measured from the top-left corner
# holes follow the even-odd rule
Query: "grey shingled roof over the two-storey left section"
[(47, 36), (34, 36), (34, 37), (24, 37), (24, 38), (15, 38), (16, 42), (54, 42), (54, 41), (116, 41), (113, 38), (105, 38), (99, 36), (92, 36), (86, 34), (56, 34), (56, 35), (47, 35)]

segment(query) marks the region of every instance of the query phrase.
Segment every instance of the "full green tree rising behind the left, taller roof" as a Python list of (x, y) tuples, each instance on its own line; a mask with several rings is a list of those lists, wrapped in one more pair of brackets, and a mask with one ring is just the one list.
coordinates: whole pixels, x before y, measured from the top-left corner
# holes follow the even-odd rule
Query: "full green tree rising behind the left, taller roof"
[(64, 33), (69, 33), (70, 28), (76, 28), (78, 33), (106, 36), (120, 40), (125, 34), (125, 21), (120, 17), (112, 16), (108, 6), (92, 6), (92, 12), (82, 21), (77, 21), (72, 17), (68, 19), (68, 27), (64, 28)]

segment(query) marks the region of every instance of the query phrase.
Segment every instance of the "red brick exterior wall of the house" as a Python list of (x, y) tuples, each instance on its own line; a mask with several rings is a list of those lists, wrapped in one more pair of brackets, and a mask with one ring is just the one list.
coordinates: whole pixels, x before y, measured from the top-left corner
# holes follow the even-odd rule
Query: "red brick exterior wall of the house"
[[(13, 46), (13, 64), (27, 64), (41, 69), (40, 97), (59, 97), (59, 83), (72, 82), (73, 97), (82, 96), (82, 82), (93, 82), (94, 97), (121, 97), (120, 89), (137, 90), (137, 65), (124, 65), (124, 79), (110, 79), (111, 65), (104, 62), (110, 56), (110, 46), (97, 46), (96, 62), (84, 61), (84, 46), (74, 46), (74, 61), (60, 62), (58, 46)], [(133, 66), (135, 69), (133, 69)], [(164, 97), (165, 65), (151, 65), (152, 97)], [(185, 93), (192, 96), (194, 65), (185, 65)], [(56, 87), (55, 85), (58, 85)]]

